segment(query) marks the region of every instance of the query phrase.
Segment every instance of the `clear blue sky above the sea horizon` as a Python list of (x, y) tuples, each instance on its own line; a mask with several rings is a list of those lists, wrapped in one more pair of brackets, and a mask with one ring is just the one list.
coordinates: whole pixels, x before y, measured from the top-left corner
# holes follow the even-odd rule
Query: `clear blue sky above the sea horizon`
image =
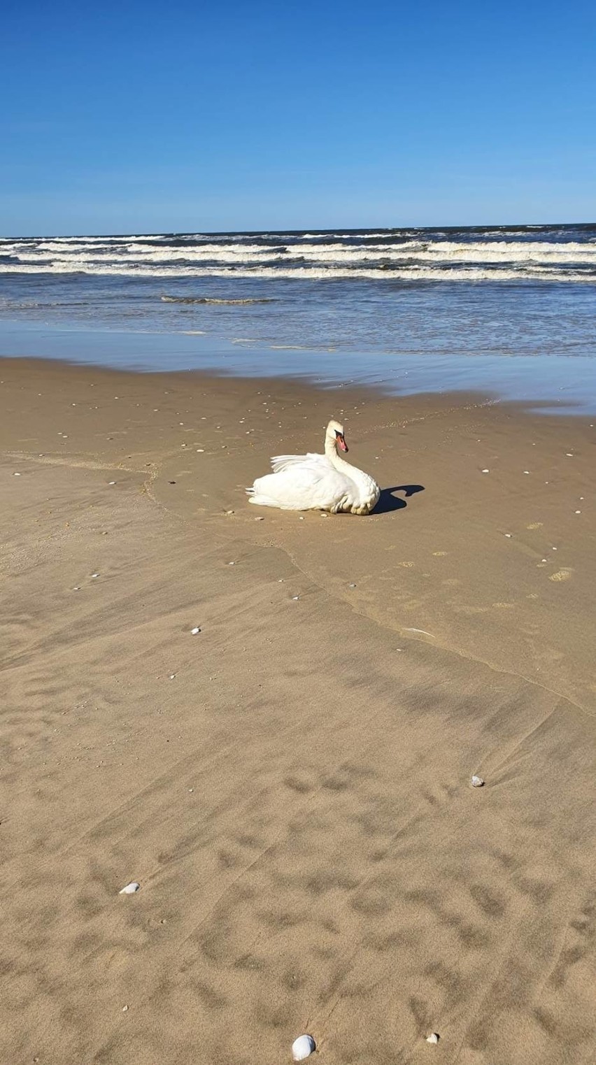
[(4, 0), (0, 233), (596, 220), (594, 0)]

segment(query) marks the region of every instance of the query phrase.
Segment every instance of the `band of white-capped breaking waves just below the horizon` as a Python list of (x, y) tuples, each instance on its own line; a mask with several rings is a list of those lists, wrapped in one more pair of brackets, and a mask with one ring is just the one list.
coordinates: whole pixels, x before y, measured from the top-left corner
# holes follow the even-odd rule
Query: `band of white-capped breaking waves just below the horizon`
[(593, 282), (596, 226), (4, 239), (0, 274)]

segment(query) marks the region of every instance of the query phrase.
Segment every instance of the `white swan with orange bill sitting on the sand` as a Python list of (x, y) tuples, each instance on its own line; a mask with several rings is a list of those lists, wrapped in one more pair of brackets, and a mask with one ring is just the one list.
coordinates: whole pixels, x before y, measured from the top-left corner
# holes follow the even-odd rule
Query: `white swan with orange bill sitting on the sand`
[(338, 455), (348, 450), (343, 426), (331, 421), (325, 430), (324, 455), (277, 455), (273, 473), (257, 477), (246, 489), (248, 503), (280, 510), (329, 510), (369, 514), (381, 489), (368, 473), (350, 465)]

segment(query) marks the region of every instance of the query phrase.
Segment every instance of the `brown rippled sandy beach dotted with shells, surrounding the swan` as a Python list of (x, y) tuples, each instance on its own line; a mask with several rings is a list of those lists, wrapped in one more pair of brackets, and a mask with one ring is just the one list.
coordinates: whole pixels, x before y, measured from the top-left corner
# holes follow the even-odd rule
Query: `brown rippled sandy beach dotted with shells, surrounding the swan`
[[(590, 420), (0, 378), (0, 1060), (592, 1065)], [(378, 512), (248, 506), (332, 415)]]

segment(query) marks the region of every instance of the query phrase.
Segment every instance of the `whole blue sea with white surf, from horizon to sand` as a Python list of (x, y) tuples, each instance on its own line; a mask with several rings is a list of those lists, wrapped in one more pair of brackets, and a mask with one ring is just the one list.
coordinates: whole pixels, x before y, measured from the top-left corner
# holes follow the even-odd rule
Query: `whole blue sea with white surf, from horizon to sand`
[(0, 239), (0, 355), (596, 412), (596, 224)]

